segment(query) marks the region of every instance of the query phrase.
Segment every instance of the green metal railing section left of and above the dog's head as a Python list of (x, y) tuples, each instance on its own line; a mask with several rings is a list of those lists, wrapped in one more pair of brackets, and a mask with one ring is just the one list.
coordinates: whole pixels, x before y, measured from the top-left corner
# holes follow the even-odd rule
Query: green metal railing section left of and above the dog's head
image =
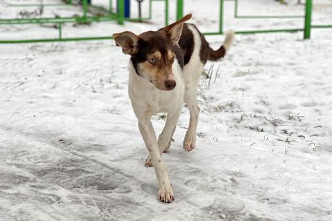
[[(91, 6), (87, 0), (82, 1), (82, 15), (74, 17), (45, 17), (45, 18), (21, 18), (21, 19), (0, 19), (1, 25), (17, 25), (17, 24), (44, 24), (44, 23), (55, 23), (57, 24), (58, 36), (52, 39), (10, 39), (0, 40), (0, 44), (15, 44), (15, 43), (35, 43), (35, 42), (52, 42), (52, 41), (88, 41), (88, 40), (104, 40), (113, 39), (112, 36), (91, 36), (91, 37), (63, 37), (63, 26), (64, 23), (91, 23), (91, 22), (102, 22), (102, 21), (118, 21), (118, 24), (122, 25), (124, 21), (145, 21), (152, 18), (152, 3), (153, 1), (164, 1), (165, 2), (165, 25), (169, 23), (169, 0), (149, 0), (149, 16), (143, 18), (125, 18), (124, 17), (124, 0), (118, 0), (118, 12), (113, 12), (112, 0), (109, 0), (109, 10), (98, 6)], [(66, 3), (26, 3), (26, 4), (12, 4), (10, 7), (59, 7), (59, 6), (73, 6), (72, 1), (69, 0)], [(95, 8), (105, 15), (89, 16), (89, 8)]]

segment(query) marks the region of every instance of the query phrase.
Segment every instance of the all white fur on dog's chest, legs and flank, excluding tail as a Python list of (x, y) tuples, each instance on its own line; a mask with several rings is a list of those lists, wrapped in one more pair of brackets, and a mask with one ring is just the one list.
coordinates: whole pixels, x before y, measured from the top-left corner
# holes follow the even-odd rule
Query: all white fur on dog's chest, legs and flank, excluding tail
[[(172, 71), (176, 87), (173, 90), (157, 89), (149, 80), (138, 76), (133, 64), (131, 62), (129, 64), (129, 97), (133, 111), (138, 118), (140, 133), (149, 151), (145, 165), (154, 165), (159, 184), (158, 197), (165, 202), (172, 201), (174, 193), (161, 155), (163, 151), (167, 151), (171, 144), (183, 100), (190, 109), (190, 126), (183, 142), (185, 150), (191, 151), (196, 141), (196, 127), (199, 117), (196, 90), (204, 64), (199, 58), (201, 50), (199, 32), (194, 26), (190, 26), (190, 30), (194, 35), (194, 51), (189, 63), (185, 65), (183, 70), (181, 70), (177, 61), (174, 62)], [(158, 140), (151, 124), (151, 115), (153, 113), (167, 113), (167, 121)]]

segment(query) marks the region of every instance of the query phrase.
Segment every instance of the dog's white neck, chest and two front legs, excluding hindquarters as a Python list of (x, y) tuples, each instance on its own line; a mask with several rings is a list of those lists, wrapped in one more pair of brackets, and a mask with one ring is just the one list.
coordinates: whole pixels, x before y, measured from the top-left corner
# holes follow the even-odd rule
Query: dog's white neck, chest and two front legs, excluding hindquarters
[[(176, 122), (181, 113), (185, 88), (178, 62), (174, 62), (172, 68), (176, 87), (165, 91), (157, 89), (149, 80), (138, 76), (131, 61), (129, 64), (129, 97), (133, 112), (138, 118), (138, 128), (149, 151), (145, 165), (148, 166), (151, 163), (154, 165), (159, 184), (158, 197), (165, 202), (171, 202), (174, 199), (174, 193), (161, 155), (172, 141)], [(157, 141), (151, 124), (151, 115), (160, 112), (167, 113), (167, 121)]]

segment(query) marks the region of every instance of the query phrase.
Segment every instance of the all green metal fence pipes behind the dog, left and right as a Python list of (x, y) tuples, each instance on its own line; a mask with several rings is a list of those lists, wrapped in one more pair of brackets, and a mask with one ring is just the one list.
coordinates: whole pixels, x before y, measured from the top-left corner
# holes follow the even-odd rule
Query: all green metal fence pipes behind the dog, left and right
[[(144, 19), (151, 19), (152, 17), (152, 1), (165, 1), (165, 23), (168, 24), (169, 19), (169, 0), (149, 0), (149, 17)], [(220, 8), (219, 8), (219, 31), (218, 32), (206, 32), (204, 35), (221, 35), (223, 34), (223, 4), (224, 1), (231, 0), (220, 0)], [(300, 18), (303, 16), (239, 16), (237, 15), (238, 8), (238, 0), (234, 0), (235, 3), (235, 15), (237, 18)], [(71, 3), (71, 1), (67, 1), (67, 3)], [(25, 23), (58, 23), (59, 27), (59, 37), (55, 39), (18, 39), (18, 40), (0, 40), (0, 44), (15, 44), (15, 43), (38, 43), (38, 42), (53, 42), (53, 41), (93, 41), (93, 40), (105, 40), (105, 39), (113, 39), (111, 36), (104, 37), (72, 37), (72, 38), (63, 38), (62, 37), (62, 26), (67, 22), (92, 22), (92, 21), (111, 21), (118, 20), (119, 24), (123, 24), (124, 21), (138, 21), (139, 19), (126, 19), (124, 18), (124, 0), (118, 0), (118, 14), (113, 14), (111, 12), (111, 0), (110, 0), (110, 10), (107, 11), (110, 13), (109, 16), (103, 17), (89, 17), (87, 15), (88, 3), (87, 0), (83, 0), (83, 11), (84, 15), (82, 17), (62, 17), (62, 18), (39, 18), (39, 19), (0, 19), (1, 24), (25, 24)], [(40, 4), (38, 5), (40, 6)], [(312, 10), (312, 0), (306, 1), (306, 15), (304, 28), (286, 28), (286, 29), (275, 29), (275, 30), (239, 30), (235, 33), (237, 34), (255, 34), (255, 33), (273, 33), (273, 32), (299, 32), (304, 31), (304, 38), (310, 38), (311, 28), (332, 28), (332, 25), (311, 25), (311, 10)], [(176, 18), (181, 19), (183, 17), (183, 0), (177, 0), (177, 10), (176, 10)]]

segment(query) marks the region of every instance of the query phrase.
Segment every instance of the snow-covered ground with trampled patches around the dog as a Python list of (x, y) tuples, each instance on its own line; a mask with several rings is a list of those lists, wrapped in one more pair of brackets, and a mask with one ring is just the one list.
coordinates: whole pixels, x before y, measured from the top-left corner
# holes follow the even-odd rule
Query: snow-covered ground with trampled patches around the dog
[[(251, 1), (243, 14), (260, 4), (263, 15), (262, 0)], [(192, 2), (193, 22), (214, 26), (211, 15), (206, 26), (197, 17), (216, 2)], [(302, 7), (295, 2), (268, 6), (293, 11)], [(331, 4), (315, 6), (315, 22), (332, 23)], [(67, 33), (141, 32), (162, 25), (162, 10), (157, 15), (149, 25), (100, 23)], [(303, 24), (278, 22), (274, 28)], [(15, 27), (0, 27), (0, 35), (51, 30)], [(332, 30), (312, 34), (308, 41), (302, 33), (238, 35), (223, 61), (213, 70), (207, 64), (197, 147), (183, 151), (183, 108), (163, 155), (172, 204), (158, 202), (154, 169), (144, 166), (120, 48), (112, 41), (0, 45), (0, 220), (332, 220)], [(222, 40), (208, 37), (213, 48)], [(157, 132), (164, 118), (154, 117)]]

